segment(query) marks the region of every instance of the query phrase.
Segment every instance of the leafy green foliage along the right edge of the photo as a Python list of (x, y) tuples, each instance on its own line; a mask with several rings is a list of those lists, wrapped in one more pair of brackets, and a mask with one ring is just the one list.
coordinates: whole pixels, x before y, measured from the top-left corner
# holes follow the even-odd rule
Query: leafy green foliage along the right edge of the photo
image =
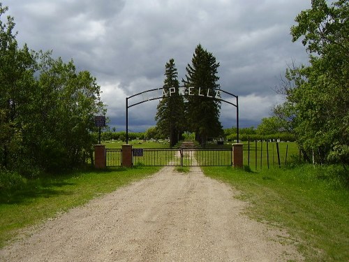
[(287, 101), (274, 109), (306, 158), (313, 155), (318, 163), (349, 163), (348, 17), (343, 0), (331, 6), (312, 1), (311, 9), (297, 15), (292, 41), (304, 37), (310, 65), (288, 68), (282, 88)]

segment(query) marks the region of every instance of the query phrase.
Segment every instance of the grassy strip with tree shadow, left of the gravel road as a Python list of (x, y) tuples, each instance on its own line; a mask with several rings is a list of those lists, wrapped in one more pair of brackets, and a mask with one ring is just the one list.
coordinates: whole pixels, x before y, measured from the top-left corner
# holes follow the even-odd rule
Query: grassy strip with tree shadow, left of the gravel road
[(84, 205), (92, 198), (140, 180), (160, 167), (108, 168), (25, 180), (15, 190), (0, 192), (0, 247), (20, 229)]

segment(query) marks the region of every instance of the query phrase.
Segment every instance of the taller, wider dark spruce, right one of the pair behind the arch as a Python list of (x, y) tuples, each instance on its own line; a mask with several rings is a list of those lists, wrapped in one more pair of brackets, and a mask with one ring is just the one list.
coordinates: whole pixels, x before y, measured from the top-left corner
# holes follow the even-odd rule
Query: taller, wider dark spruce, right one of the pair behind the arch
[[(211, 52), (201, 45), (195, 48), (191, 64), (186, 66), (186, 79), (182, 80), (186, 87), (195, 87), (206, 94), (208, 89), (219, 88), (219, 63)], [(207, 138), (223, 135), (219, 122), (221, 102), (206, 96), (188, 96), (186, 103), (188, 131), (195, 132), (196, 140), (205, 145)]]

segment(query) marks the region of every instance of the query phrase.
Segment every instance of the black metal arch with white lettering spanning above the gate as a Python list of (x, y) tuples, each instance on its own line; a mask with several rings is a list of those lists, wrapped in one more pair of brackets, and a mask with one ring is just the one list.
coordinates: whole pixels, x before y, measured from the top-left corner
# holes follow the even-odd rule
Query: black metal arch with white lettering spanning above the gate
[[(176, 92), (178, 89), (178, 93)], [(126, 97), (126, 144), (128, 144), (128, 108), (132, 108), (135, 105), (140, 105), (141, 103), (145, 103), (147, 101), (152, 101), (156, 99), (163, 99), (165, 97), (171, 96), (203, 96), (210, 99), (215, 99), (218, 101), (223, 101), (230, 105), (235, 106), (236, 108), (236, 125), (237, 125), (237, 143), (239, 143), (239, 98), (235, 96), (235, 94), (231, 94), (230, 92), (226, 92), (222, 89), (211, 88), (211, 89), (201, 89), (200, 87), (159, 87), (154, 89), (149, 89), (144, 92), (140, 92), (138, 94), (134, 94), (133, 96)], [(223, 96), (228, 96), (227, 99), (223, 98)], [(229, 98), (235, 99), (235, 103), (228, 101)], [(135, 101), (131, 101), (130, 99), (134, 99)], [(138, 99), (138, 100), (137, 100)]]

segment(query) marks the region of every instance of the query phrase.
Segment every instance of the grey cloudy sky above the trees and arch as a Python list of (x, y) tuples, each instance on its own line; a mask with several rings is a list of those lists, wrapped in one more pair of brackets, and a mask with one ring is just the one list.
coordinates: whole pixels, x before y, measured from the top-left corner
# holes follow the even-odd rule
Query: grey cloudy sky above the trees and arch
[[(90, 71), (102, 89), (110, 126), (125, 130), (126, 97), (162, 87), (173, 58), (185, 77), (195, 47), (211, 52), (221, 89), (239, 96), (240, 126), (257, 126), (282, 98), (274, 92), (292, 60), (308, 60), (290, 27), (311, 0), (0, 0), (15, 18), (17, 41), (53, 50)], [(129, 109), (129, 129), (154, 126), (158, 101)], [(221, 122), (235, 126), (223, 103)]]

